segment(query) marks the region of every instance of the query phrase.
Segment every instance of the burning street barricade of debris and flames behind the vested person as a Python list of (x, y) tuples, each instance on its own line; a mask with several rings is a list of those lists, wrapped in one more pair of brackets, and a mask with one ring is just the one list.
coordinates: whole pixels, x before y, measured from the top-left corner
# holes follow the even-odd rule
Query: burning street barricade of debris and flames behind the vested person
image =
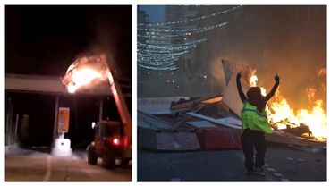
[[(181, 133), (180, 131), (191, 130), (198, 136), (201, 149), (240, 148), (242, 101), (235, 86), (235, 72), (242, 71), (242, 77), (244, 77), (242, 89), (244, 92), (247, 92), (251, 86), (257, 86), (259, 79), (255, 74), (256, 70), (252, 70), (245, 63), (233, 63), (227, 60), (222, 60), (222, 63), (225, 70), (226, 83), (222, 96), (207, 98), (139, 98), (139, 120), (137, 123), (139, 139), (141, 135), (144, 137), (141, 140), (146, 140), (144, 142), (150, 140), (153, 144), (156, 140), (157, 144), (164, 142), (182, 144), (181, 149), (183, 150), (186, 143), (181, 142), (179, 139), (185, 141), (187, 133)], [(261, 89), (263, 95), (266, 96), (267, 89)], [(273, 133), (266, 135), (267, 142), (295, 147), (325, 146), (324, 141), (318, 140), (324, 140), (326, 137), (326, 114), (321, 107), (323, 102), (314, 102), (314, 94), (315, 90), (310, 89), (308, 97), (312, 101), (311, 103), (315, 103), (314, 107), (310, 110), (293, 111), (287, 100), (280, 94), (280, 91), (276, 91), (275, 98), (269, 100), (269, 105), (266, 107), (269, 123), (273, 127)], [(146, 112), (144, 117), (141, 116), (140, 111)], [(153, 122), (155, 120), (158, 122)], [(157, 127), (158, 125), (159, 127)], [(146, 133), (146, 130), (149, 130), (149, 132)], [(169, 132), (172, 130), (177, 133), (176, 138), (148, 138), (150, 132), (162, 133), (162, 131)], [(301, 137), (309, 139), (302, 139)], [(145, 145), (143, 147), (146, 148)], [(173, 150), (177, 149), (174, 148)]]

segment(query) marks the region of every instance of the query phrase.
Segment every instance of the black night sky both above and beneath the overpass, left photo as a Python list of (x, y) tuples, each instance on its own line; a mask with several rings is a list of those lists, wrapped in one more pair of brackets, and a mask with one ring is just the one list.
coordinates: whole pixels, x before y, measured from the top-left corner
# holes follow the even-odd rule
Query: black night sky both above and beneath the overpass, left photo
[[(5, 73), (64, 76), (74, 59), (99, 52), (120, 83), (132, 82), (132, 6), (5, 6)], [(123, 90), (124, 93), (131, 89)], [(29, 137), (20, 144), (50, 146), (55, 95), (6, 91), (15, 115), (29, 115)], [(70, 108), (70, 129), (65, 138), (72, 148), (85, 148), (93, 139), (92, 122), (98, 122), (99, 100), (104, 118), (120, 121), (113, 97), (60, 95), (60, 107)], [(131, 111), (131, 97), (125, 97)], [(19, 124), (21, 132), (21, 124)]]

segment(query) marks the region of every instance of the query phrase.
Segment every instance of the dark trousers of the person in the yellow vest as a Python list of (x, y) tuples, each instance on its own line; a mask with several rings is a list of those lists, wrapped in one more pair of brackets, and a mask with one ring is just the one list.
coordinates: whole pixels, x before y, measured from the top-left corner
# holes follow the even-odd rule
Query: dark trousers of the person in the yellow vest
[[(254, 164), (254, 148), (256, 149)], [(242, 150), (245, 155), (247, 170), (252, 171), (253, 166), (262, 167), (266, 154), (266, 139), (261, 131), (245, 129), (242, 132)]]

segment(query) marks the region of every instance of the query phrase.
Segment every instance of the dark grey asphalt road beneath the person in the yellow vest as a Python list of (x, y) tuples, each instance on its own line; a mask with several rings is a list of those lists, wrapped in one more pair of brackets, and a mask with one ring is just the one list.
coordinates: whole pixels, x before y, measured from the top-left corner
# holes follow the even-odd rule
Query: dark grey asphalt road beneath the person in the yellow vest
[(326, 153), (268, 147), (265, 176), (247, 175), (242, 150), (138, 151), (138, 181), (325, 181)]

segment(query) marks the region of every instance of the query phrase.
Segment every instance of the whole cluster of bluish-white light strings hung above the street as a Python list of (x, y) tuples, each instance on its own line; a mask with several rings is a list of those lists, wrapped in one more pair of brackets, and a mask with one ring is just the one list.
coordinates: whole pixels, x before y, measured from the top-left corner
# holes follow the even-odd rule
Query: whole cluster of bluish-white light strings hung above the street
[[(191, 21), (203, 21), (214, 18), (217, 15), (233, 12), (242, 7), (234, 6), (225, 11), (202, 15), (199, 17), (169, 21), (154, 24), (139, 23), (137, 27), (137, 62), (141, 68), (155, 71), (174, 71), (177, 62), (182, 55), (188, 54), (207, 38), (201, 38), (205, 32), (224, 27), (227, 21), (199, 28), (188, 27), (186, 23)], [(176, 29), (172, 29), (175, 25)], [(181, 29), (182, 27), (182, 29)]]

